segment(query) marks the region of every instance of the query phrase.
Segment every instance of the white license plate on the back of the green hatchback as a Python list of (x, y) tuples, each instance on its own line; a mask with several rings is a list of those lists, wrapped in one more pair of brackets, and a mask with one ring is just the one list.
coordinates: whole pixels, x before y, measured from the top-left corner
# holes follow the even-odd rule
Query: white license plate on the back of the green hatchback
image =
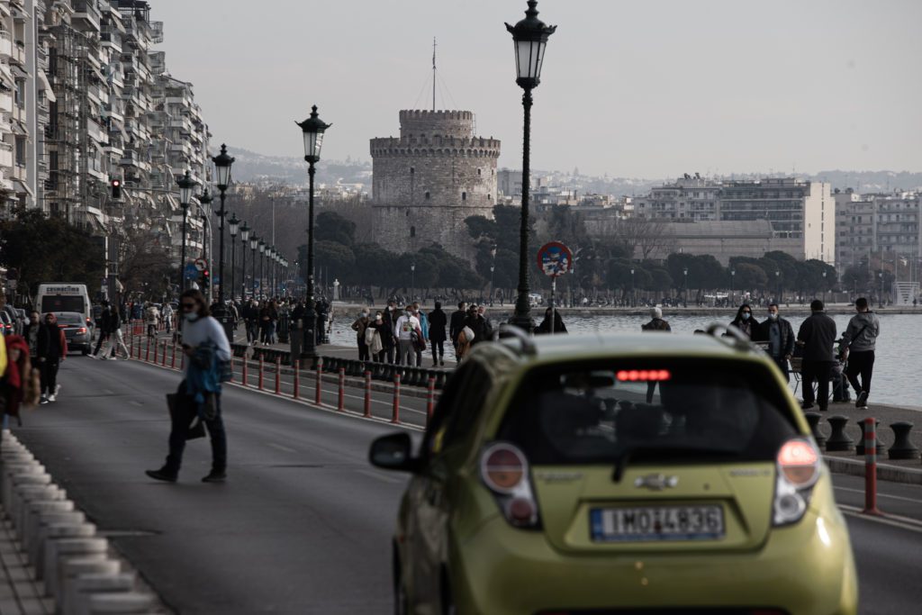
[(589, 526), (596, 542), (715, 540), (724, 536), (720, 506), (593, 508)]

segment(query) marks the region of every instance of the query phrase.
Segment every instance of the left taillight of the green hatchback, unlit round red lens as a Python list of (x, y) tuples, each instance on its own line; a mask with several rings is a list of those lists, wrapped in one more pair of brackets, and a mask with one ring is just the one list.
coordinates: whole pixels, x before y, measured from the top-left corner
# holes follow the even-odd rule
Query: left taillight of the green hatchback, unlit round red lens
[(528, 460), (517, 446), (504, 442), (487, 446), (480, 455), (480, 478), (493, 492), (506, 521), (516, 527), (539, 526)]

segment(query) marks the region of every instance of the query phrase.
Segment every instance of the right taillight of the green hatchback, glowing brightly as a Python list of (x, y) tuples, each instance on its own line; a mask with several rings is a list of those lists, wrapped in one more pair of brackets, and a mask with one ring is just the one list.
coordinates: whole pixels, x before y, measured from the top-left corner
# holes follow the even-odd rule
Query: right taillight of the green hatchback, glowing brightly
[(777, 455), (773, 525), (797, 523), (807, 512), (813, 485), (820, 479), (820, 452), (808, 440), (782, 444)]

